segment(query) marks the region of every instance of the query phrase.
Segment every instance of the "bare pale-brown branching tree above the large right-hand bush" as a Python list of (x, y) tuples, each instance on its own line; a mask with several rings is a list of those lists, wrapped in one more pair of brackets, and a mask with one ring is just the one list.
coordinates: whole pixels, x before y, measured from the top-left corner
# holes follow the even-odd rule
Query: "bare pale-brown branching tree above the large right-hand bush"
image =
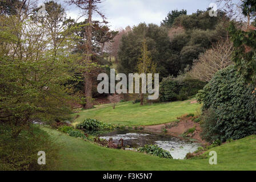
[(188, 75), (198, 80), (210, 81), (216, 72), (233, 64), (232, 52), (233, 44), (229, 40), (214, 44), (213, 48), (200, 55), (198, 60), (194, 60)]

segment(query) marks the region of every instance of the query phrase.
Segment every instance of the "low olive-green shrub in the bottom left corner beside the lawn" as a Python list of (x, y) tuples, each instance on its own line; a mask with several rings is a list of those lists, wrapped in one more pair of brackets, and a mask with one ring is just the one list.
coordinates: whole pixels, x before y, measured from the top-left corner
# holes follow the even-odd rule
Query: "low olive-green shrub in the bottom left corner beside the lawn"
[[(39, 165), (38, 151), (45, 151), (46, 165)], [(38, 126), (23, 130), (17, 138), (11, 135), (11, 127), (0, 125), (0, 170), (56, 170), (59, 146)]]

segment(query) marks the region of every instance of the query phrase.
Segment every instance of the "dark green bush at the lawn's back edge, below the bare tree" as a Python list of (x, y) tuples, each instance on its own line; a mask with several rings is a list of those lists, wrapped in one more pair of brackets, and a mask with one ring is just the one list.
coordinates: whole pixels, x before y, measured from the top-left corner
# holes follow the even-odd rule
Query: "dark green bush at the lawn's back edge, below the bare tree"
[(205, 86), (205, 82), (188, 77), (166, 77), (160, 83), (159, 93), (161, 101), (183, 101), (197, 94)]

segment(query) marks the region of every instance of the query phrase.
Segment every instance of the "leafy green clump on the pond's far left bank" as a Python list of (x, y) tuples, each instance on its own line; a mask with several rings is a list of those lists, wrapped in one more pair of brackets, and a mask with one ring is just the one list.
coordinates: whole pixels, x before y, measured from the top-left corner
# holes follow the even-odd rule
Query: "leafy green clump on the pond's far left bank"
[(111, 123), (103, 123), (97, 119), (85, 119), (83, 122), (75, 126), (77, 129), (86, 131), (112, 130), (115, 128)]

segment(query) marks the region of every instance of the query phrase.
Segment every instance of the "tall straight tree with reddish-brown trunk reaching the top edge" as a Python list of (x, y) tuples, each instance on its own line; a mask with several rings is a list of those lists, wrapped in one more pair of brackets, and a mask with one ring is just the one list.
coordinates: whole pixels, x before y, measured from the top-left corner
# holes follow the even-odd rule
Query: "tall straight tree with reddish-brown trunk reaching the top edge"
[(85, 27), (85, 34), (84, 39), (85, 44), (83, 45), (86, 57), (85, 57), (85, 67), (87, 68), (83, 75), (85, 76), (85, 96), (86, 96), (86, 108), (90, 109), (93, 107), (93, 95), (92, 95), (92, 88), (93, 88), (93, 75), (95, 69), (97, 69), (97, 64), (91, 63), (91, 55), (93, 55), (93, 48), (92, 48), (92, 39), (93, 39), (93, 21), (92, 21), (92, 14), (95, 12), (99, 16), (101, 16), (103, 23), (106, 23), (105, 15), (98, 10), (98, 4), (101, 3), (101, 0), (69, 0), (67, 1), (71, 4), (76, 5), (83, 11), (83, 15), (87, 16), (87, 24)]

